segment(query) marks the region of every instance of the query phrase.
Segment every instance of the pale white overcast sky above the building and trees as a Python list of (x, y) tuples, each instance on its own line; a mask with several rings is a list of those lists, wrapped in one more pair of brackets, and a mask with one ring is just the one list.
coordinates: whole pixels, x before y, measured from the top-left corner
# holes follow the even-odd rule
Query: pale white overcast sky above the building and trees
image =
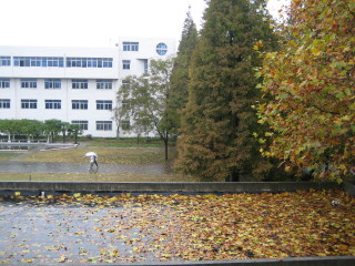
[[(276, 13), (285, 0), (268, 0)], [(118, 39), (180, 40), (186, 12), (200, 30), (205, 0), (0, 0), (0, 45), (114, 47)]]

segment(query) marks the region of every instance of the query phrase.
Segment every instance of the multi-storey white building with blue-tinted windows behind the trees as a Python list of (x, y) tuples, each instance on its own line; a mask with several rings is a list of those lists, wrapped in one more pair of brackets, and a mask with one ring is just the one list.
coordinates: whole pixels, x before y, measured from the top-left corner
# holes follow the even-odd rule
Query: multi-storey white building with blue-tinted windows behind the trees
[(172, 39), (139, 38), (115, 48), (0, 47), (0, 120), (55, 119), (83, 135), (122, 136), (112, 117), (122, 81), (175, 52)]

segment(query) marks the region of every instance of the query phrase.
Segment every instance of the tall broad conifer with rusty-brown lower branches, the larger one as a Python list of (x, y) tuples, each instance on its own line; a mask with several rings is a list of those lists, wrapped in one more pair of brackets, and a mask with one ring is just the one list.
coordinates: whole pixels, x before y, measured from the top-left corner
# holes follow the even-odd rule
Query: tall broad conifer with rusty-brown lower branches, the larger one
[(211, 0), (192, 59), (176, 167), (204, 181), (239, 181), (263, 167), (252, 105), (258, 98), (253, 49), (276, 40), (264, 0)]

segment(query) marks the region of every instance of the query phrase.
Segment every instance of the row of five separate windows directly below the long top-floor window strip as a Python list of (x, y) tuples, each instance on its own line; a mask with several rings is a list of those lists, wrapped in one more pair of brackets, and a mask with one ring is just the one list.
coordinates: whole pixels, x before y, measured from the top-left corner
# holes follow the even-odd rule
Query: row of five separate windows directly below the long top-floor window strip
[[(37, 89), (37, 79), (21, 79), (22, 89)], [(112, 90), (112, 80), (97, 80), (98, 90)], [(72, 89), (89, 89), (89, 80), (73, 79), (71, 80)], [(0, 89), (10, 89), (11, 80), (9, 78), (0, 78)], [(60, 79), (44, 79), (44, 89), (61, 89), (62, 80)]]

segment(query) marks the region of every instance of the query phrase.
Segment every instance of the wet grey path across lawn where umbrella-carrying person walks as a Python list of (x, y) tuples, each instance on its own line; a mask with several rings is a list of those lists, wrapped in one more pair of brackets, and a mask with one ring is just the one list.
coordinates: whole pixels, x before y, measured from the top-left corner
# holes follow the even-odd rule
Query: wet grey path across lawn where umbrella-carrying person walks
[[(78, 163), (32, 163), (8, 161), (0, 162), (0, 172), (7, 173), (88, 173), (89, 164)], [(170, 174), (171, 167), (165, 164), (122, 165), (100, 164), (101, 174)]]

